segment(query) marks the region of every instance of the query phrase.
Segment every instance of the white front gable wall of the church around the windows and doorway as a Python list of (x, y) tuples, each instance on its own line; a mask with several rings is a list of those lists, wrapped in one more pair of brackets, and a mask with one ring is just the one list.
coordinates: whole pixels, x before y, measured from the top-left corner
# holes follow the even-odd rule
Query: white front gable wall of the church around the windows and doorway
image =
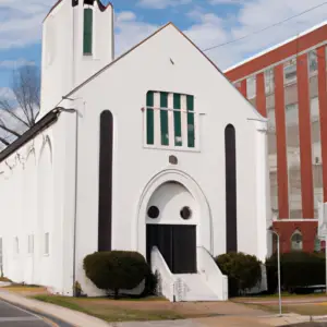
[[(174, 62), (171, 63), (170, 59)], [(174, 152), (143, 147), (143, 113), (148, 90), (194, 95), (199, 116), (201, 150)], [(265, 140), (257, 131), (263, 120), (242, 95), (172, 25), (129, 53), (110, 69), (70, 95), (81, 113), (78, 148), (77, 280), (87, 290), (83, 258), (97, 251), (99, 116), (113, 113), (113, 213), (112, 249), (135, 250), (145, 255), (145, 244), (137, 245), (137, 207), (147, 183), (157, 173), (177, 169), (194, 179), (203, 191), (213, 219), (214, 255), (226, 251), (225, 129), (231, 123), (237, 132), (238, 245), (239, 251), (265, 258), (265, 194), (259, 194), (262, 179), (256, 160)], [(265, 125), (265, 123), (263, 123)], [(264, 138), (261, 138), (264, 137)], [(265, 148), (264, 148), (265, 150)], [(175, 155), (178, 166), (168, 162)], [(258, 164), (256, 164), (258, 162)], [(265, 187), (264, 187), (265, 190)], [(205, 219), (201, 217), (201, 219)], [(261, 230), (258, 230), (261, 229)], [(261, 234), (261, 237), (258, 237)], [(209, 237), (209, 235), (208, 235)], [(140, 235), (138, 235), (140, 238)], [(198, 245), (205, 243), (204, 235)], [(87, 240), (87, 242), (86, 242)], [(259, 250), (264, 249), (264, 250)]]

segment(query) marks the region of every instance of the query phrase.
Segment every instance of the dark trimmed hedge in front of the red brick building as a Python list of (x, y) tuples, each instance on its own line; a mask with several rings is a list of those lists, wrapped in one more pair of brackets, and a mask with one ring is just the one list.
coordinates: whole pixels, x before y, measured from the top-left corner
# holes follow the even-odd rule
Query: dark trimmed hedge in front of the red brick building
[[(278, 284), (277, 255), (266, 262), (268, 290), (276, 292)], [(280, 256), (281, 287), (292, 292), (294, 288), (325, 284), (325, 257), (320, 254), (290, 252)]]

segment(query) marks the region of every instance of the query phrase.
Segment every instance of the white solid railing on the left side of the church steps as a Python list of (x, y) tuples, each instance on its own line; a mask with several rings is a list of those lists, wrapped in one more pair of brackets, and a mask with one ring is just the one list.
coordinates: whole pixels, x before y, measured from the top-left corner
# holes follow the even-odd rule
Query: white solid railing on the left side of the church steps
[(157, 293), (173, 302), (175, 280), (156, 246), (152, 251), (152, 270), (158, 278)]

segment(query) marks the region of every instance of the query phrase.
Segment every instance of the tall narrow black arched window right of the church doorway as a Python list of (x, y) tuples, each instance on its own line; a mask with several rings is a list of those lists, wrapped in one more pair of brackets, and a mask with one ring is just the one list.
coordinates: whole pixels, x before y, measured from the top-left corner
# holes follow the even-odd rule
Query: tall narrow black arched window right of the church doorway
[(226, 252), (238, 251), (237, 213), (237, 142), (235, 129), (229, 124), (225, 130), (226, 157)]

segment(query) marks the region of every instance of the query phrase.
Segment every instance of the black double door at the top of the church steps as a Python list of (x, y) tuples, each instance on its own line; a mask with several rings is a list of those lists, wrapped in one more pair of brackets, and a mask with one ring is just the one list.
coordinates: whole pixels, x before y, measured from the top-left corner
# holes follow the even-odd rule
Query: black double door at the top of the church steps
[(172, 274), (196, 274), (196, 226), (147, 225), (147, 262), (157, 246)]

